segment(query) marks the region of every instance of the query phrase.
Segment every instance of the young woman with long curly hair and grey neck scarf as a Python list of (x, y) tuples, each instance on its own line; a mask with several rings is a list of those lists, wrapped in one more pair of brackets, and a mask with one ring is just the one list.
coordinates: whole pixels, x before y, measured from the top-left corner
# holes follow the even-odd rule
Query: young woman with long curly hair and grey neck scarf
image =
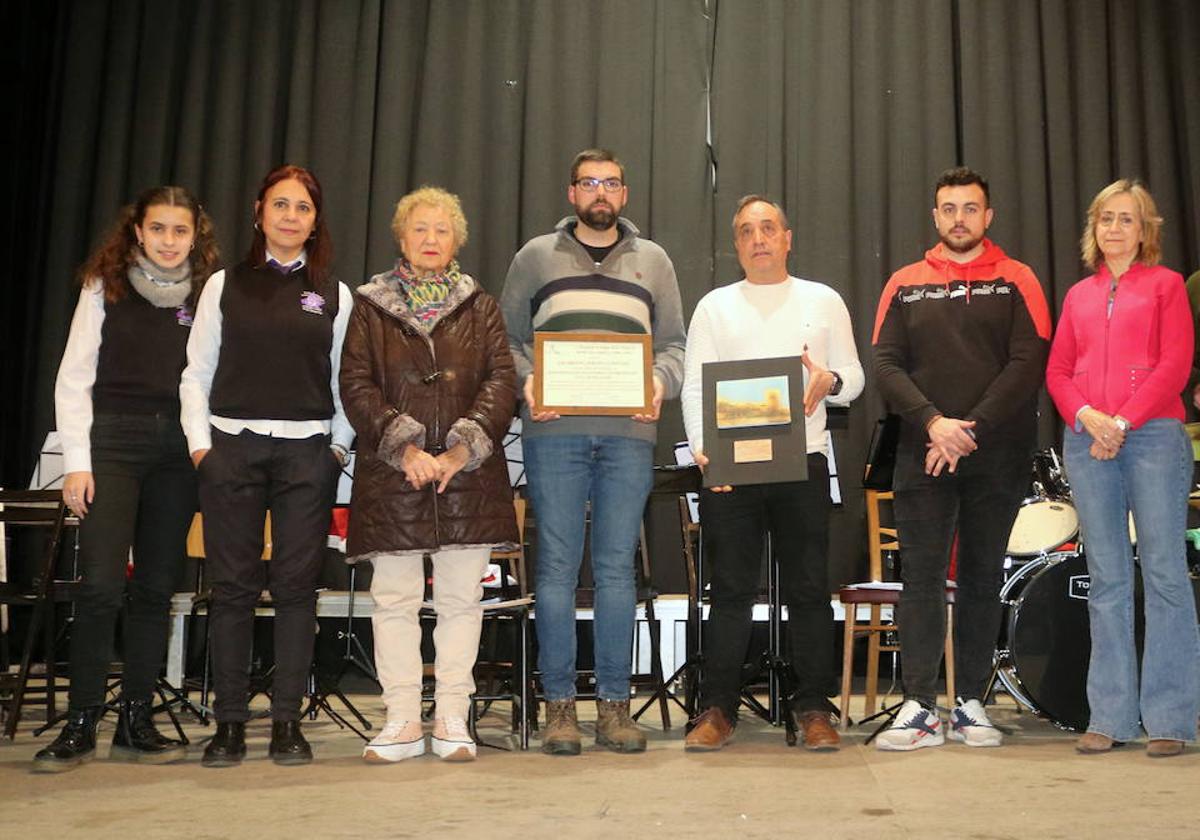
[(95, 754), (122, 606), (125, 668), (109, 757), (166, 763), (187, 754), (155, 728), (151, 695), (196, 510), (179, 376), (196, 300), (216, 262), (208, 215), (187, 190), (163, 186), (125, 208), (79, 269), (54, 407), (62, 497), (80, 520), (82, 583), (67, 722), (34, 757), (37, 772), (68, 770)]

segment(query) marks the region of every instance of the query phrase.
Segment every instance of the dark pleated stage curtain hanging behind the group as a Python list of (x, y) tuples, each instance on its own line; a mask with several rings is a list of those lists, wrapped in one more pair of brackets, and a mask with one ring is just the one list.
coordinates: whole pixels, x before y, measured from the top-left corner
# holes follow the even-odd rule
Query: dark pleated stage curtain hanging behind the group
[[(464, 269), (498, 292), (529, 236), (569, 211), (566, 167), (607, 145), (626, 211), (671, 253), (684, 306), (739, 277), (730, 214), (778, 197), (796, 274), (836, 288), (870, 370), (888, 274), (935, 240), (937, 173), (992, 187), (992, 236), (1051, 306), (1082, 276), (1084, 210), (1121, 175), (1166, 217), (1165, 263), (1200, 266), (1200, 10), (1188, 0), (260, 0), (38, 2), (24, 34), (5, 197), (13, 260), (4, 341), (2, 470), (28, 481), (53, 426), (74, 268), (119, 204), (180, 182), (227, 262), (250, 241), (274, 164), (326, 192), (352, 286), (394, 258), (396, 199), (440, 184), (472, 224)], [(10, 31), (17, 31), (10, 28)], [(857, 476), (874, 385), (836, 436), (846, 506), (833, 577), (865, 546)], [(1044, 443), (1052, 439), (1044, 412)], [(683, 437), (665, 412), (660, 460)]]

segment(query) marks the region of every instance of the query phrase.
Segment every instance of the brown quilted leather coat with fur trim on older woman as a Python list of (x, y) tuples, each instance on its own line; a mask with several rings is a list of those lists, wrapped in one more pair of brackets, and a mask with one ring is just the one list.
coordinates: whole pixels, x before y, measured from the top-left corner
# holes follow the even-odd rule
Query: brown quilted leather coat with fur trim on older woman
[[(432, 326), (389, 274), (358, 289), (342, 347), (341, 395), (358, 432), (347, 557), (493, 546), (517, 540), (502, 440), (516, 374), (496, 299), (462, 275)], [(413, 490), (401, 456), (467, 444), (445, 492)]]

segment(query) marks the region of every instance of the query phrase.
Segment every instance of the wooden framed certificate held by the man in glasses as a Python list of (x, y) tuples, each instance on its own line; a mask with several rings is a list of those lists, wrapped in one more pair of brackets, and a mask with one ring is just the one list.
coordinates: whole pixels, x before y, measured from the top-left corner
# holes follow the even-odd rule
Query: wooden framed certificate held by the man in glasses
[(534, 332), (534, 400), (558, 414), (650, 414), (653, 361), (648, 335)]

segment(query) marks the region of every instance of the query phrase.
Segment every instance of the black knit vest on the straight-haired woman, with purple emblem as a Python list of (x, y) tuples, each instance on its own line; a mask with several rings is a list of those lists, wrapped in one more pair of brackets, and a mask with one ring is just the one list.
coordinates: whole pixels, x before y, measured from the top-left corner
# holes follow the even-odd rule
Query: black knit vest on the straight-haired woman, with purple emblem
[(239, 263), (221, 294), (221, 355), (209, 394), (212, 414), (239, 420), (329, 420), (329, 353), (337, 281), (318, 293), (307, 268), (282, 275)]

